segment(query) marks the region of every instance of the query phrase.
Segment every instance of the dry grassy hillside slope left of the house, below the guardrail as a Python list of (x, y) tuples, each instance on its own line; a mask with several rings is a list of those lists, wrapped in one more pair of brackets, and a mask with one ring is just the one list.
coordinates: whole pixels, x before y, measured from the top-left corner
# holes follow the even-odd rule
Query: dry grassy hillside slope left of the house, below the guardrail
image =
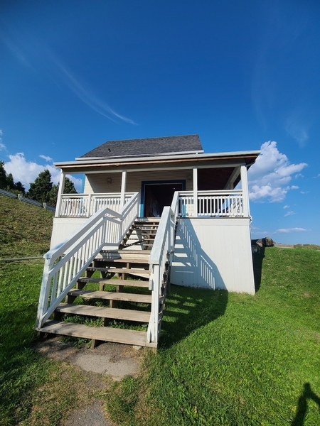
[(48, 251), (54, 213), (0, 195), (0, 259)]

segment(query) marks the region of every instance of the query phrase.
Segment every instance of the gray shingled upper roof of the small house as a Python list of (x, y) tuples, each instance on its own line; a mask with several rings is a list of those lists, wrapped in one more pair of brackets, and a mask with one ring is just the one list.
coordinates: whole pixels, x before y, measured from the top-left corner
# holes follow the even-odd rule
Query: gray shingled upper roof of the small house
[(107, 141), (80, 158), (144, 157), (189, 151), (203, 151), (198, 135)]

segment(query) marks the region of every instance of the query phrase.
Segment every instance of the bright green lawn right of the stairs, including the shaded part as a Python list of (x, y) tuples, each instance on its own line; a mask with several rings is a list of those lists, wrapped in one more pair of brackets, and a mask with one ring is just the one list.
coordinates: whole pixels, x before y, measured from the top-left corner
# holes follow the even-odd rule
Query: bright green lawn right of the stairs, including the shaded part
[(107, 392), (112, 420), (320, 425), (320, 253), (268, 248), (255, 266), (254, 297), (172, 290), (146, 372), (129, 390), (115, 383)]

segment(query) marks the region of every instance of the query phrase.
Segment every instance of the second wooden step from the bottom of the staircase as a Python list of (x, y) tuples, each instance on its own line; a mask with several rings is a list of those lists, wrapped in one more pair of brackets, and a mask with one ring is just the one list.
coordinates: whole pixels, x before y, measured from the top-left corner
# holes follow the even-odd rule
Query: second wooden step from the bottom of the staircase
[(87, 315), (89, 317), (112, 318), (114, 320), (137, 322), (149, 322), (150, 320), (150, 312), (117, 309), (115, 307), (98, 307), (90, 305), (60, 303), (55, 311), (62, 314)]

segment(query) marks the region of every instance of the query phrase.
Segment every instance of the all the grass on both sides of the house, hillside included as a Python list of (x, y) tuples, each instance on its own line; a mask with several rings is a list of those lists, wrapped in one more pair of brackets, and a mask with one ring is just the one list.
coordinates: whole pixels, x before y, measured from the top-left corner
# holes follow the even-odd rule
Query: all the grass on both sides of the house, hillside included
[[(49, 212), (24, 207), (32, 212), (23, 224), (0, 223), (0, 258), (37, 256), (49, 245), (50, 231), (41, 236), (33, 224)], [(36, 220), (50, 230), (51, 218)], [(114, 422), (320, 425), (320, 251), (272, 247), (254, 257), (255, 296), (171, 288), (157, 354), (146, 351), (137, 378), (100, 391)], [(90, 375), (33, 348), (42, 270), (42, 261), (0, 263), (1, 426), (60, 425), (97, 396)]]

